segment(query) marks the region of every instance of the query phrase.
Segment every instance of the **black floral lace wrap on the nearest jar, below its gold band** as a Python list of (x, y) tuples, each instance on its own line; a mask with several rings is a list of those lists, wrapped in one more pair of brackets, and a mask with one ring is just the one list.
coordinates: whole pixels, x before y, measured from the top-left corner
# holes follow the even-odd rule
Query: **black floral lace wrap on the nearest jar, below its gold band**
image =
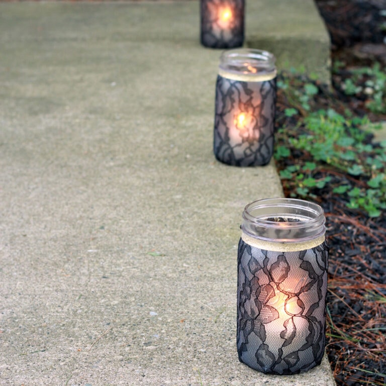
[(268, 374), (294, 374), (321, 363), (325, 348), (328, 247), (274, 252), (240, 239), (239, 360)]

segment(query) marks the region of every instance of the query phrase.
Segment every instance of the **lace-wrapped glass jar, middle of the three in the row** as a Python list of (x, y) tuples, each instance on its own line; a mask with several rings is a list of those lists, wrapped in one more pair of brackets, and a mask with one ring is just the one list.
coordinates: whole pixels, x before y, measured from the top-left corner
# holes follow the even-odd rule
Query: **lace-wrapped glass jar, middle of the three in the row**
[(225, 51), (216, 82), (213, 149), (233, 166), (267, 164), (273, 153), (275, 57), (256, 49)]

